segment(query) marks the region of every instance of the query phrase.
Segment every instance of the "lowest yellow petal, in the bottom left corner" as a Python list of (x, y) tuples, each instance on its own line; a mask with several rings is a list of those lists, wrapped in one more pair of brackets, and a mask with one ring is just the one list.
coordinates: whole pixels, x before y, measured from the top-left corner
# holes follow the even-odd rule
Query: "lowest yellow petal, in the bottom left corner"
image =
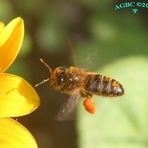
[(0, 119), (0, 148), (37, 148), (31, 133), (20, 123), (11, 119)]

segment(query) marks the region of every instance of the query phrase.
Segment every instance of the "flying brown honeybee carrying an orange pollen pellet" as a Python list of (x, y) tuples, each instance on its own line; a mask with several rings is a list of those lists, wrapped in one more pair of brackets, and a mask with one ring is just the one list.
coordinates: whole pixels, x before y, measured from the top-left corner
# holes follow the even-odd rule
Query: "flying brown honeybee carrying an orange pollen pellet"
[(50, 81), (51, 88), (70, 95), (71, 97), (65, 105), (67, 109), (64, 107), (62, 109), (63, 114), (66, 110), (71, 112), (81, 97), (86, 98), (83, 102), (85, 109), (94, 113), (93, 95), (116, 97), (124, 94), (122, 85), (110, 77), (95, 72), (86, 72), (74, 66), (69, 68), (57, 67), (52, 71), (43, 59), (40, 61), (49, 69), (50, 77), (36, 84), (35, 87)]

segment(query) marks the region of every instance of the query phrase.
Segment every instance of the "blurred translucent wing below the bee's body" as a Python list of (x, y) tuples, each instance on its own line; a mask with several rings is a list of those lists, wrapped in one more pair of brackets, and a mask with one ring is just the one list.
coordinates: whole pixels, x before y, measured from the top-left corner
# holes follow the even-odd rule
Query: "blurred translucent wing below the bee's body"
[(72, 120), (71, 119), (71, 113), (75, 109), (76, 105), (78, 104), (80, 100), (80, 95), (72, 95), (68, 98), (68, 100), (63, 104), (63, 106), (60, 108), (58, 114), (56, 115), (55, 119), (58, 121), (64, 121), (64, 120)]

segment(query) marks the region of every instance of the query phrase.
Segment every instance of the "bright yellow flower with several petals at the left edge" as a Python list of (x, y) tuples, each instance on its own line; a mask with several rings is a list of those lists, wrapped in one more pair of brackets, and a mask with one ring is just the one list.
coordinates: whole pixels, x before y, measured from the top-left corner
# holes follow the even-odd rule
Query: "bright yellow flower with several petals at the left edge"
[(18, 17), (4, 26), (0, 22), (0, 148), (37, 148), (29, 131), (10, 117), (31, 113), (40, 103), (34, 88), (23, 78), (4, 73), (15, 60), (24, 36)]

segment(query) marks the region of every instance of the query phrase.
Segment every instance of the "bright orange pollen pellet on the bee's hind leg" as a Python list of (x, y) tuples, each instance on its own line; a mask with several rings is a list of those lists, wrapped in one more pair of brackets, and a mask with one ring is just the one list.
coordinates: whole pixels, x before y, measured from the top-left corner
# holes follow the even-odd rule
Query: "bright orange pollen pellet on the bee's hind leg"
[(83, 101), (83, 105), (89, 113), (95, 113), (96, 111), (95, 103), (92, 101), (92, 99), (86, 98)]

